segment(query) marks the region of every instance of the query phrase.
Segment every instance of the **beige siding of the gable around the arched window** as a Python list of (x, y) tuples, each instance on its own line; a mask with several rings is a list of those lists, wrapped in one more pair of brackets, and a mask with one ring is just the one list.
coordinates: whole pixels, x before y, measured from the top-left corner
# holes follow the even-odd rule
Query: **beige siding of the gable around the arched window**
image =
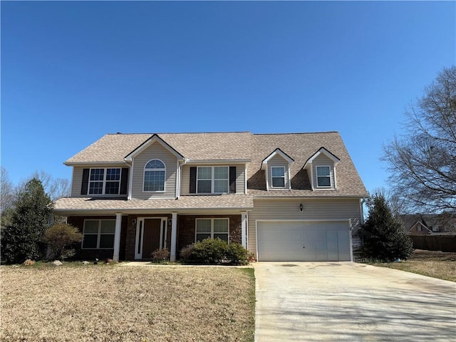
[[(165, 163), (165, 192), (143, 192), (144, 167), (152, 159)], [(160, 142), (154, 142), (133, 159), (132, 199), (173, 198), (176, 196), (177, 158)]]

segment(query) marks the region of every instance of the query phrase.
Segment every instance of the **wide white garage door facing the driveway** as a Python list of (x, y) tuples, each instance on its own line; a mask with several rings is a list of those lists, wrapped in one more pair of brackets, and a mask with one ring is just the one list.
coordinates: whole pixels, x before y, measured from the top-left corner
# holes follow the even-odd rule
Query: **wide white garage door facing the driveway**
[(258, 222), (259, 261), (350, 261), (348, 222)]

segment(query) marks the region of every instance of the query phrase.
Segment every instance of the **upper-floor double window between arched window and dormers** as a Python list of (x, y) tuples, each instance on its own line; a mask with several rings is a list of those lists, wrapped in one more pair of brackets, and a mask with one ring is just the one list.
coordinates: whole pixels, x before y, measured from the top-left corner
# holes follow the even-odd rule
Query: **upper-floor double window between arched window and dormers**
[(229, 167), (199, 166), (197, 168), (198, 194), (223, 194), (229, 191)]

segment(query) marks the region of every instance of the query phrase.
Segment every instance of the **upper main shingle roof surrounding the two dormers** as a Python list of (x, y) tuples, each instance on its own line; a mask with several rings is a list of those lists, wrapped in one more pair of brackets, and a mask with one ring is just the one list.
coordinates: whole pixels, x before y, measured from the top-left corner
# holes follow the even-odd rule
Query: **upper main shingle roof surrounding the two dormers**
[[(94, 162), (124, 162), (126, 155), (153, 134), (108, 134), (66, 161), (67, 165)], [(240, 133), (157, 133), (167, 144), (190, 160), (252, 160), (248, 164), (249, 194), (264, 196), (353, 196), (368, 192), (337, 132), (252, 134)], [(309, 175), (303, 170), (306, 160), (321, 147), (340, 158), (337, 165), (337, 190), (311, 191)], [(279, 148), (294, 159), (291, 185), (294, 190), (266, 192), (261, 161)]]

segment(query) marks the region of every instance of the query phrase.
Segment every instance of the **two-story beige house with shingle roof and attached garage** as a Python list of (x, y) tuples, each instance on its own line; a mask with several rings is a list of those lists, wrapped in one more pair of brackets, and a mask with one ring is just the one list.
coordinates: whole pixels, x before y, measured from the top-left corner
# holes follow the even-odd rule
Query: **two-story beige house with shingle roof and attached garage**
[(219, 237), (259, 261), (351, 261), (368, 196), (336, 132), (108, 134), (65, 165), (54, 210), (83, 232), (81, 259), (174, 261)]

